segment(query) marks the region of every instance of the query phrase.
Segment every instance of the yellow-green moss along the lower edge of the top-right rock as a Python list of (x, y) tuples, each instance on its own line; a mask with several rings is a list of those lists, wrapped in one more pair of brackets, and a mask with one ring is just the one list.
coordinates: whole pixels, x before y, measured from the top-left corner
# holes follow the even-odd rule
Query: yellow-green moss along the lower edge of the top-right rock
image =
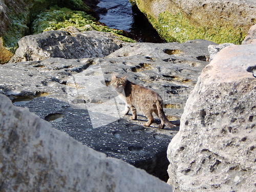
[[(168, 42), (206, 39), (218, 44), (231, 42), (239, 45), (246, 36), (246, 30), (230, 27), (233, 26), (233, 24), (225, 22), (205, 24), (203, 21), (198, 24), (197, 22), (188, 20), (181, 12), (172, 14), (168, 11), (164, 11), (158, 15), (158, 18), (156, 18), (150, 15), (151, 9), (148, 6), (152, 4), (148, 3), (148, 1), (130, 0), (130, 3), (138, 6), (140, 11), (146, 15), (150, 23), (157, 30), (159, 35)], [(175, 9), (175, 7), (173, 9)], [(189, 17), (189, 15), (187, 16)]]

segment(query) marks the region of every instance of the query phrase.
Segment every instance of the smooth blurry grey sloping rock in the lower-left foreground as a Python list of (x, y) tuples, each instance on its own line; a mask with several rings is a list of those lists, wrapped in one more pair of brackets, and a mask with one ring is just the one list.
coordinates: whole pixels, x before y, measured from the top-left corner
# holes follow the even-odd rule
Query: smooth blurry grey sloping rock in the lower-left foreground
[(144, 170), (107, 158), (0, 94), (2, 191), (172, 191)]

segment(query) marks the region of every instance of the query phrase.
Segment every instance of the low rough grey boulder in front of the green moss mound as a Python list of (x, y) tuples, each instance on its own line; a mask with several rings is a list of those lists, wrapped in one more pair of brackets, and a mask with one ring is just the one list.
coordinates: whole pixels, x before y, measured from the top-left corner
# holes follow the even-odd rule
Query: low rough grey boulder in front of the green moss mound
[(46, 31), (20, 39), (10, 62), (38, 61), (50, 57), (104, 57), (119, 49), (116, 42), (121, 44), (120, 40), (104, 32)]

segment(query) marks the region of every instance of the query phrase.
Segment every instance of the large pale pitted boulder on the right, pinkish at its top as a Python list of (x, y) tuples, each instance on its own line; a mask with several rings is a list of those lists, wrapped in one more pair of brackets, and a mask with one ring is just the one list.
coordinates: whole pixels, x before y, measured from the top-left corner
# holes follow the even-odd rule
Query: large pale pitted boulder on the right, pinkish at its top
[(175, 191), (255, 191), (255, 50), (224, 48), (202, 71), (168, 146)]

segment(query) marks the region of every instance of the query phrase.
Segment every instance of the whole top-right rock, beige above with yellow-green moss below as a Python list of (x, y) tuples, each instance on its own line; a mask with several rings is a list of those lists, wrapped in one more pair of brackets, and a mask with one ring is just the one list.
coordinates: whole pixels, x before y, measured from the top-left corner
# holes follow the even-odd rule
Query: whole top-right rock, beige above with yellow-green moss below
[(222, 0), (130, 0), (168, 42), (203, 38), (241, 44), (256, 22), (256, 3)]

